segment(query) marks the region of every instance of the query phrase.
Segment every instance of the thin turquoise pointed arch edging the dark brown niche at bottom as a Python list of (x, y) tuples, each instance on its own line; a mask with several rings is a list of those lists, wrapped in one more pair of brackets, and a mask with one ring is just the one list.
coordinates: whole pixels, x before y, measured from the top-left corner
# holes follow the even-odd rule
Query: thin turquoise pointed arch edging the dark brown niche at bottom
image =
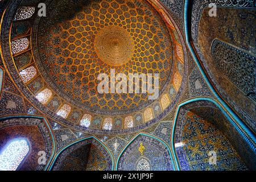
[(86, 137), (86, 138), (82, 138), (82, 139), (76, 140), (75, 142), (72, 142), (72, 143), (68, 144), (68, 146), (63, 147), (63, 148), (62, 148), (59, 152), (57, 152), (57, 154), (54, 156), (54, 159), (52, 160), (52, 163), (51, 163), (51, 165), (49, 166), (48, 171), (52, 171), (53, 167), (55, 166), (55, 163), (56, 163), (57, 159), (60, 157), (61, 154), (63, 154), (63, 152), (64, 152), (65, 150), (67, 150), (69, 147), (74, 146), (75, 144), (79, 144), (80, 142), (84, 142), (84, 141), (90, 140), (90, 139), (96, 141), (98, 144), (100, 144), (101, 147), (104, 148), (104, 150), (106, 151), (106, 153), (109, 155), (108, 171), (113, 171), (113, 170), (114, 170), (114, 157), (113, 157), (112, 152), (110, 152), (109, 148), (108, 148), (103, 142), (101, 142), (100, 139), (98, 139), (98, 138), (96, 138), (96, 137), (94, 137), (94, 136)]

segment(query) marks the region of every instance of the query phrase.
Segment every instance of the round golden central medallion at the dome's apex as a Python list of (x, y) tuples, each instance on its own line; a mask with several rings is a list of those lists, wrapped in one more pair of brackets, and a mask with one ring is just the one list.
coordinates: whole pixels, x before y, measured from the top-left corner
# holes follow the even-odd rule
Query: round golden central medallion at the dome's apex
[(98, 57), (110, 66), (127, 63), (134, 52), (133, 39), (124, 28), (118, 26), (102, 28), (96, 35), (94, 47)]

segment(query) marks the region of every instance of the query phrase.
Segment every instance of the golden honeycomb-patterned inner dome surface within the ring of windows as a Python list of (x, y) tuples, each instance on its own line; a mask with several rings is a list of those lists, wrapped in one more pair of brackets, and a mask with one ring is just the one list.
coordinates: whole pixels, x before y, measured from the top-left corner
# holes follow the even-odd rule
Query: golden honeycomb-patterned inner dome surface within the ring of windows
[(67, 3), (52, 1), (38, 26), (37, 64), (47, 82), (67, 101), (97, 113), (127, 113), (150, 104), (148, 94), (99, 94), (97, 77), (110, 77), (111, 69), (159, 73), (164, 89), (171, 78), (172, 40), (158, 13), (146, 1)]

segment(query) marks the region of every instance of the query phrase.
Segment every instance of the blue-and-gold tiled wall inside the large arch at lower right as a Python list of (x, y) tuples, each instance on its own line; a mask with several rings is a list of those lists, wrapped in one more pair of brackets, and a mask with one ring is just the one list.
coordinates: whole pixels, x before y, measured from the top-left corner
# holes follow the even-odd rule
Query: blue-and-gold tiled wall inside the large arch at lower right
[(179, 138), (175, 141), (175, 149), (182, 169), (196, 171), (247, 169), (229, 140), (212, 123), (192, 111), (184, 114), (184, 118), (180, 118), (179, 121), (183, 124), (179, 134), (176, 134)]

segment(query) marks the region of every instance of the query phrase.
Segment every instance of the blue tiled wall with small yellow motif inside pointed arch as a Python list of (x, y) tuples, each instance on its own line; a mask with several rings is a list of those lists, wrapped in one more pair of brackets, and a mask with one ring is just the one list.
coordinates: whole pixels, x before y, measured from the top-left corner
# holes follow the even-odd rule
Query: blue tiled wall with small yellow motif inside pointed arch
[(174, 169), (172, 165), (168, 148), (162, 142), (151, 137), (139, 135), (121, 153), (118, 170), (170, 171)]

